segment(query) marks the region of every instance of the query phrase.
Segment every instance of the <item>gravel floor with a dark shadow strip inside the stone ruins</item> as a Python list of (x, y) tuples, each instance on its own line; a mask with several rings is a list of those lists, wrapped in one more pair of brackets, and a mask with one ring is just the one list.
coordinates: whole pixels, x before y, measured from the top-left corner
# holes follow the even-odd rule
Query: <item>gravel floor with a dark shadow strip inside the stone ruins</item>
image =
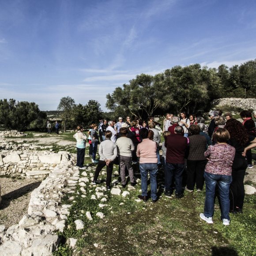
[(38, 188), (42, 178), (0, 177), (2, 202), (0, 204), (0, 225), (7, 228), (17, 224), (27, 213), (31, 192)]

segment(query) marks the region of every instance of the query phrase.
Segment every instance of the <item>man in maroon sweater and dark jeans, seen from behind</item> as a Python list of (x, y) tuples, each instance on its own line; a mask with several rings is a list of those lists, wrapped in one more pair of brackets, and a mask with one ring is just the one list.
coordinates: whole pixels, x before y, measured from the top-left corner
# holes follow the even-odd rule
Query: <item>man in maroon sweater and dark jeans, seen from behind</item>
[(184, 170), (184, 156), (188, 147), (188, 139), (182, 135), (183, 128), (177, 126), (174, 134), (166, 138), (166, 165), (165, 165), (165, 195), (171, 196), (172, 181), (175, 179), (175, 196), (182, 198), (182, 173)]

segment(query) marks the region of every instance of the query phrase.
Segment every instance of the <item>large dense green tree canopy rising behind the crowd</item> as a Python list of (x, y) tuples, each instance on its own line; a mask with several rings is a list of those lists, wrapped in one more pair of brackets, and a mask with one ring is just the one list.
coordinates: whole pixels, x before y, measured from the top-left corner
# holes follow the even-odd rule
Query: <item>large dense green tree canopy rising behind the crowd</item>
[(192, 64), (175, 66), (154, 76), (136, 75), (106, 95), (106, 107), (116, 116), (131, 113), (139, 118), (167, 109), (173, 113), (198, 113), (207, 110), (217, 98), (244, 98), (245, 91), (247, 98), (256, 95), (256, 60), (231, 68)]

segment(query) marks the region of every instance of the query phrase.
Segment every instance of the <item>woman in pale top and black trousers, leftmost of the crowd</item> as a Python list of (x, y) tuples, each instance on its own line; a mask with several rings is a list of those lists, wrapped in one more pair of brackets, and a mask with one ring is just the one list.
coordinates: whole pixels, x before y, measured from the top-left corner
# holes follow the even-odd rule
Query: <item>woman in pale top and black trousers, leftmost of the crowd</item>
[(78, 166), (80, 169), (86, 169), (86, 167), (83, 166), (83, 162), (84, 162), (85, 145), (86, 145), (87, 136), (83, 134), (82, 125), (78, 125), (76, 129), (77, 129), (77, 132), (73, 136), (76, 139), (76, 149), (77, 149), (76, 166)]

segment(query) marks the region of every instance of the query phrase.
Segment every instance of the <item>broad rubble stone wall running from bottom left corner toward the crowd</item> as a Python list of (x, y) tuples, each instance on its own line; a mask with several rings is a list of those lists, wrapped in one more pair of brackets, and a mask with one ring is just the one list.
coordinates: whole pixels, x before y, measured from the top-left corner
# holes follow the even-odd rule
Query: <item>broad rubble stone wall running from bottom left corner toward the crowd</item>
[(60, 244), (56, 231), (63, 232), (71, 207), (62, 205), (61, 199), (74, 192), (79, 180), (79, 168), (70, 165), (71, 162), (56, 165), (31, 193), (28, 213), (18, 224), (7, 230), (0, 225), (1, 256), (47, 256), (56, 250)]

